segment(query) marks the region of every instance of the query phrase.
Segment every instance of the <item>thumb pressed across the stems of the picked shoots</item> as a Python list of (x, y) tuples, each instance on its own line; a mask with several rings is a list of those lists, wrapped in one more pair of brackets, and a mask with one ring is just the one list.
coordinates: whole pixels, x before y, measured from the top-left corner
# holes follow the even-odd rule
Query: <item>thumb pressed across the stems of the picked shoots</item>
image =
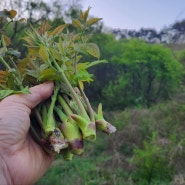
[(19, 103), (26, 105), (28, 108), (33, 109), (40, 102), (49, 98), (53, 93), (53, 82), (46, 82), (30, 88), (30, 94), (12, 95), (3, 100), (5, 103)]

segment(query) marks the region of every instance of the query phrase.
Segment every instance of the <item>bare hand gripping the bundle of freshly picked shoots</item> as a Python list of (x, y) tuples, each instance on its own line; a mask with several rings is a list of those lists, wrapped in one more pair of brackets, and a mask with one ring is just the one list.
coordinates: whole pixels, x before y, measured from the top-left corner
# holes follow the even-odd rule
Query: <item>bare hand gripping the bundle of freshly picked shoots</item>
[[(52, 156), (41, 149), (28, 131), (31, 109), (51, 96), (53, 83), (37, 85), (30, 92), (12, 95), (0, 102), (0, 173), (5, 173), (1, 168), (7, 168), (6, 178), (9, 176), (14, 185), (33, 184), (52, 162)], [(7, 185), (8, 182), (10, 179)]]

